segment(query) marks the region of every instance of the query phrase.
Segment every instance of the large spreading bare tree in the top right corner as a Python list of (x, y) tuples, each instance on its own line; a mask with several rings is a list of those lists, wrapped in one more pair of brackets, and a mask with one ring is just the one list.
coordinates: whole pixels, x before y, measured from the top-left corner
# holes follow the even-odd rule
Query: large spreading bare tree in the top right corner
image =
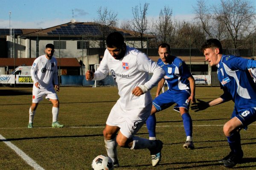
[(239, 40), (255, 31), (255, 7), (248, 0), (221, 0), (214, 11), (215, 19), (225, 25), (234, 48), (239, 48)]

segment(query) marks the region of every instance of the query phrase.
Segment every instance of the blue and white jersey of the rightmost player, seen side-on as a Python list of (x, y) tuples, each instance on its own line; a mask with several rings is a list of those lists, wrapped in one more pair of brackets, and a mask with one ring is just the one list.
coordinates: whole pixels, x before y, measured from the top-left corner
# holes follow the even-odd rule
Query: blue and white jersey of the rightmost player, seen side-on
[(224, 86), (224, 95), (221, 98), (225, 101), (228, 100), (227, 96), (232, 97), (235, 111), (256, 107), (256, 85), (247, 69), (247, 60), (242, 57), (222, 55), (217, 65), (218, 79)]

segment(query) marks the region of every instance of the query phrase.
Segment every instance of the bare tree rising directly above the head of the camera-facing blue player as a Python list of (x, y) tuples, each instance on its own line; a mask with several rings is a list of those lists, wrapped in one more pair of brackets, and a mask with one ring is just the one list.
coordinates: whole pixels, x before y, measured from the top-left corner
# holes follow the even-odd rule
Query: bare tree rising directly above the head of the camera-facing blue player
[(158, 20), (155, 25), (160, 43), (167, 42), (169, 43), (175, 34), (176, 22), (172, 20), (172, 9), (169, 6), (164, 6), (160, 10)]

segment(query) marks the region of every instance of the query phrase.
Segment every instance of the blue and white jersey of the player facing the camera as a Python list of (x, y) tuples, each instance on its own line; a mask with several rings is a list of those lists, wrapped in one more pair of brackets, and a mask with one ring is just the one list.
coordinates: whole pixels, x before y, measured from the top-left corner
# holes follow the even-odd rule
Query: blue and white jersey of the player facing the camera
[(157, 64), (165, 71), (164, 79), (166, 79), (169, 89), (171, 91), (190, 91), (188, 78), (192, 75), (186, 63), (178, 57), (172, 57), (172, 63), (168, 64), (165, 64), (161, 59), (157, 60)]

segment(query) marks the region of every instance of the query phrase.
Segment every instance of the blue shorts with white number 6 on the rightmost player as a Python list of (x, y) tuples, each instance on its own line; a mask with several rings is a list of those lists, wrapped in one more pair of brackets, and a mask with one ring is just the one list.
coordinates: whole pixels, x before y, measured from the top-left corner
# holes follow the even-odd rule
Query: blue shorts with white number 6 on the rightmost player
[(241, 111), (234, 111), (231, 119), (237, 117), (243, 124), (243, 128), (246, 130), (247, 126), (256, 121), (256, 108), (246, 108)]

